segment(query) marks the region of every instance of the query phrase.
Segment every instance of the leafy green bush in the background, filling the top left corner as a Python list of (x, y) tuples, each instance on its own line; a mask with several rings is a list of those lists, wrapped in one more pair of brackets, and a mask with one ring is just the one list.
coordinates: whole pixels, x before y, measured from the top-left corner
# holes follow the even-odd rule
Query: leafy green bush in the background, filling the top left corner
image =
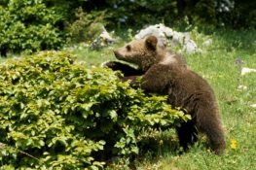
[(62, 11), (48, 7), (43, 0), (8, 0), (0, 4), (1, 54), (60, 48), (67, 36)]

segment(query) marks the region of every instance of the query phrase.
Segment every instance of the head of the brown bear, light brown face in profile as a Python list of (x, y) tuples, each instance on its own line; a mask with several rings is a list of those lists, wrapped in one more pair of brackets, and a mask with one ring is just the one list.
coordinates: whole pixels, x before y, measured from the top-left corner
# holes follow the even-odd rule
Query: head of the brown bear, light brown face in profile
[(155, 36), (149, 36), (145, 39), (133, 40), (114, 53), (117, 59), (135, 64), (146, 72), (161, 60), (163, 50), (158, 46), (158, 39)]

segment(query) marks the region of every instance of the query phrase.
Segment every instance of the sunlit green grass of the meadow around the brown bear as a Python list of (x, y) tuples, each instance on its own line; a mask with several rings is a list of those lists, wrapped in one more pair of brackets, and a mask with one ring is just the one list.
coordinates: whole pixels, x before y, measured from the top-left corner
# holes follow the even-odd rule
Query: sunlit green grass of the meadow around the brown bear
[[(188, 65), (199, 73), (214, 88), (219, 101), (226, 133), (227, 149), (223, 155), (210, 153), (201, 138), (188, 153), (177, 155), (169, 148), (163, 147), (158, 158), (145, 155), (137, 164), (141, 170), (254, 170), (256, 168), (256, 109), (250, 107), (256, 103), (256, 74), (240, 76), (235, 64), (237, 58), (244, 67), (256, 68), (256, 31), (255, 30), (215, 30), (205, 35), (197, 30), (192, 37), (201, 48), (201, 53), (185, 54)], [(209, 47), (202, 47), (203, 41), (212, 39)], [(80, 59), (90, 65), (98, 65), (113, 60), (112, 50), (124, 42), (101, 51), (88, 49), (75, 50)], [(247, 89), (240, 90), (238, 85)], [(232, 149), (231, 141), (237, 141)]]

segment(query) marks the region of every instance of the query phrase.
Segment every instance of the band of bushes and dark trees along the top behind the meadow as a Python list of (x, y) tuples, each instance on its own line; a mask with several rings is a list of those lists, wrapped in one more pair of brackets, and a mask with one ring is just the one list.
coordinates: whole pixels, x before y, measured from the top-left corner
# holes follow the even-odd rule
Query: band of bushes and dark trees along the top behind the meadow
[(187, 21), (255, 28), (255, 7), (249, 0), (1, 0), (0, 54), (91, 40), (98, 22), (110, 29)]

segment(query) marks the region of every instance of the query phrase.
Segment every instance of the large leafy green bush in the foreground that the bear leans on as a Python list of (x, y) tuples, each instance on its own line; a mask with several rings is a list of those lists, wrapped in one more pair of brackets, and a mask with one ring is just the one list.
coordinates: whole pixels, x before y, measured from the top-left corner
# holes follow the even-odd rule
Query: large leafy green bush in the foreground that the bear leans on
[(0, 65), (0, 169), (97, 169), (139, 135), (189, 119), (106, 68), (46, 51)]

